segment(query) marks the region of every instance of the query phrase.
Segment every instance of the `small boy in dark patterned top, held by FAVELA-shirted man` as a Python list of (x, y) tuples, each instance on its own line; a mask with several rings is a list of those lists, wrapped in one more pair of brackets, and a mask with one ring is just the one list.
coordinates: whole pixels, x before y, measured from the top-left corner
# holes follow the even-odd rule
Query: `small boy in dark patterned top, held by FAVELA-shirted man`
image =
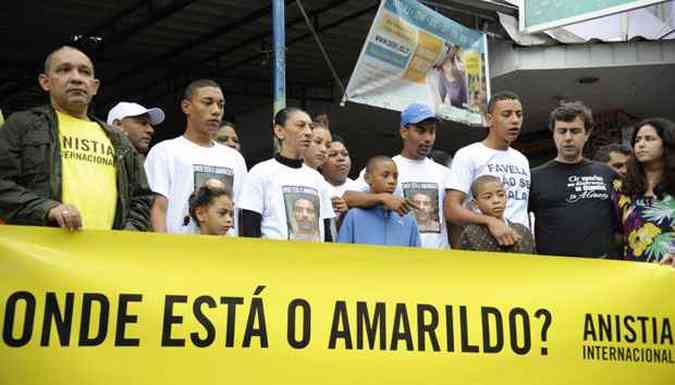
[(512, 253), (534, 254), (534, 240), (527, 227), (504, 219), (506, 210), (506, 191), (501, 179), (493, 175), (483, 175), (471, 184), (473, 203), (483, 215), (497, 218), (508, 224), (520, 240), (513, 246), (499, 246), (485, 225), (467, 224), (459, 238), (460, 248), (464, 250), (507, 251)]

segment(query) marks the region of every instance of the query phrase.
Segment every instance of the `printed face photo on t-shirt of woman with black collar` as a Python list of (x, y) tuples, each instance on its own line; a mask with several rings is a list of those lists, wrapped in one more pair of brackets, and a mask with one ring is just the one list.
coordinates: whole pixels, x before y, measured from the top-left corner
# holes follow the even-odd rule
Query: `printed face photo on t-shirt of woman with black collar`
[(304, 186), (283, 186), (288, 221), (288, 239), (320, 241), (320, 205), (316, 189)]

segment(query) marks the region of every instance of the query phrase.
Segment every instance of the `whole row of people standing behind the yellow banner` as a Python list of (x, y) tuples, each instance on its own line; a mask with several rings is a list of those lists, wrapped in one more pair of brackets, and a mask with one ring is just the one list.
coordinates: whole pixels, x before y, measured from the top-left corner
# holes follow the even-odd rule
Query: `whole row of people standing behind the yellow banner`
[(402, 147), (349, 178), (347, 143), (327, 117), (285, 108), (273, 119), (278, 153), (247, 169), (218, 83), (190, 83), (183, 135), (149, 147), (164, 112), (120, 102), (90, 114), (92, 61), (61, 47), (39, 84), (50, 104), (0, 128), (0, 219), (68, 230), (139, 230), (597, 257), (675, 266), (675, 124), (646, 119), (630, 145), (583, 156), (593, 127), (581, 102), (551, 112), (557, 156), (530, 168), (512, 147), (523, 105), (492, 96), (488, 135), (430, 158), (438, 119), (413, 103)]

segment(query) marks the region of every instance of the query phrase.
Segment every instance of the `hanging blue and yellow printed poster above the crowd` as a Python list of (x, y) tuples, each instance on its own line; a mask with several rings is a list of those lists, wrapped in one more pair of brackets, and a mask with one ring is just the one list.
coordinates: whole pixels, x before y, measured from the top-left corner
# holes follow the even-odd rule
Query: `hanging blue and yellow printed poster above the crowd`
[(486, 36), (416, 0), (382, 0), (343, 102), (396, 111), (423, 102), (439, 118), (484, 126)]

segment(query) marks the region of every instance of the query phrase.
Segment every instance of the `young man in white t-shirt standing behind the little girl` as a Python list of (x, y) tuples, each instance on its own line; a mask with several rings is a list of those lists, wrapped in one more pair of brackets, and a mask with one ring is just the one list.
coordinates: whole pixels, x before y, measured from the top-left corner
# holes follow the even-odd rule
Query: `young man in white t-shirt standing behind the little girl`
[(225, 191), (238, 203), (247, 173), (246, 162), (237, 150), (213, 141), (224, 106), (225, 98), (218, 83), (212, 80), (190, 83), (181, 101), (181, 109), (187, 116), (185, 133), (158, 143), (148, 153), (145, 171), (152, 191), (157, 193), (151, 210), (155, 231), (194, 232), (194, 228), (183, 224), (189, 210), (188, 197), (209, 179), (223, 182)]

